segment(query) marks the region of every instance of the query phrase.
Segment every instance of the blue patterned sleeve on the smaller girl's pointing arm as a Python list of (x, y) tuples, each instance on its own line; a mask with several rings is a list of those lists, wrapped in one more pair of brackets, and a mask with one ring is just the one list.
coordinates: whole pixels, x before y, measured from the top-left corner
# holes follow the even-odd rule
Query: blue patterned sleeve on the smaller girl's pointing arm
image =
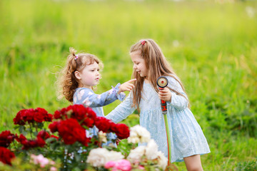
[(100, 95), (95, 94), (93, 90), (89, 88), (81, 88), (78, 93), (76, 93), (76, 97), (74, 98), (74, 104), (83, 104), (86, 107), (97, 108), (104, 105), (109, 105), (115, 100), (124, 100), (126, 97), (125, 93), (119, 93), (119, 86), (121, 84), (117, 84), (115, 88), (108, 90)]

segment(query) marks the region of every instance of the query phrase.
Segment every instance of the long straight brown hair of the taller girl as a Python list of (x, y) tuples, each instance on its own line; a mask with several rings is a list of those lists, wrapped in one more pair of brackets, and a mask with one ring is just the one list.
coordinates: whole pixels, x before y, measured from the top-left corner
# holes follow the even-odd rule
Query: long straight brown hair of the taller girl
[[(157, 78), (159, 76), (171, 76), (180, 84), (183, 91), (186, 93), (183, 84), (176, 76), (176, 73), (171, 68), (170, 64), (163, 55), (161, 48), (157, 45), (152, 39), (143, 39), (138, 41), (133, 46), (131, 46), (130, 53), (139, 51), (141, 56), (146, 63), (146, 68), (148, 69), (148, 81), (151, 83), (151, 86), (158, 92), (157, 88)], [(133, 88), (133, 107), (136, 107), (139, 110), (139, 103), (141, 100), (141, 92), (143, 90), (143, 81), (144, 78), (141, 77), (135, 70), (133, 70), (132, 78), (136, 78), (135, 88)], [(186, 98), (185, 95), (179, 93), (173, 88), (169, 88), (171, 91), (178, 95), (182, 95)], [(187, 98), (186, 98), (187, 99)], [(189, 103), (188, 103), (189, 106)]]

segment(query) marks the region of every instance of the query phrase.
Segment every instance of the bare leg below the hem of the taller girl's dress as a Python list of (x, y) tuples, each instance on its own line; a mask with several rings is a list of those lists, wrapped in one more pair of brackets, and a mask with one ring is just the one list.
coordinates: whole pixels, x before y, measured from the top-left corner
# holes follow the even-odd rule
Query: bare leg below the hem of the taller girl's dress
[(203, 171), (203, 167), (201, 166), (200, 155), (184, 157), (183, 160), (185, 161), (186, 169), (188, 171)]

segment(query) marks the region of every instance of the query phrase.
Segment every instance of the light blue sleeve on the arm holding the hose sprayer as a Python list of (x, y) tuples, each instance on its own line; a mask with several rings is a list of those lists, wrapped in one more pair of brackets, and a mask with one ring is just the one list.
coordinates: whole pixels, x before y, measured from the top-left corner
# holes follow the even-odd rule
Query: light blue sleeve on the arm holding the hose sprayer
[(183, 91), (178, 81), (176, 81), (172, 77), (167, 77), (167, 78), (168, 78), (168, 87), (178, 91), (178, 93), (181, 93), (186, 97), (185, 98), (182, 95), (178, 95), (173, 91), (171, 91), (171, 102), (167, 101), (167, 105), (171, 105), (178, 110), (186, 109), (188, 107), (188, 97), (186, 93)]

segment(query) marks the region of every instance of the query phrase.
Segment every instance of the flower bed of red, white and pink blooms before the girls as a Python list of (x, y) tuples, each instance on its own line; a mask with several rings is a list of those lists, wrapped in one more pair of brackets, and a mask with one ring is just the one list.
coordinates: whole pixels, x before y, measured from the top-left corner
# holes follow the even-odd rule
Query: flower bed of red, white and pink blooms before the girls
[[(0, 170), (166, 169), (167, 158), (145, 128), (136, 125), (129, 130), (83, 105), (70, 105), (54, 115), (43, 108), (20, 110), (14, 125), (19, 135), (0, 133)], [(90, 135), (94, 127), (99, 133)], [(128, 138), (128, 145), (115, 147), (116, 140), (106, 145), (106, 133)], [(137, 146), (138, 142), (146, 145)]]

